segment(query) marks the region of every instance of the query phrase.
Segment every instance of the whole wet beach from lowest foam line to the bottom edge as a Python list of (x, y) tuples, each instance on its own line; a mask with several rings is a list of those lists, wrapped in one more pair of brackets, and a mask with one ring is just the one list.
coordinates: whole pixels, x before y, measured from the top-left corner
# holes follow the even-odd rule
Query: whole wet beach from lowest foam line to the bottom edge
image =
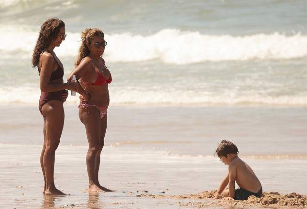
[[(212, 156), (221, 139), (234, 140), (263, 191), (307, 194), (303, 107), (112, 106), (99, 176), (102, 186), (116, 191), (89, 194), (84, 126), (78, 108), (65, 104), (54, 176), (56, 187), (70, 195), (56, 197), (42, 194), (43, 119), (37, 106), (4, 105), (1, 110), (1, 209), (267, 207), (257, 199), (231, 203), (198, 198), (217, 189), (226, 175), (228, 167)], [(269, 207), (288, 207), (274, 204)]]

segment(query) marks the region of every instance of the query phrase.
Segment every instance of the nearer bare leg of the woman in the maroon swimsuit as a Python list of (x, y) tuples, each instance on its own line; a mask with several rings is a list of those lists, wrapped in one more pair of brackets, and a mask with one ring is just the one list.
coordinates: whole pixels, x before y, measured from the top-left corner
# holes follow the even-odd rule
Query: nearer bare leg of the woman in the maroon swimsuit
[(51, 100), (44, 104), (42, 112), (45, 115), (46, 149), (43, 154), (43, 165), (46, 177), (47, 195), (65, 194), (55, 188), (54, 185), (54, 158), (55, 150), (58, 148), (64, 126), (63, 103)]

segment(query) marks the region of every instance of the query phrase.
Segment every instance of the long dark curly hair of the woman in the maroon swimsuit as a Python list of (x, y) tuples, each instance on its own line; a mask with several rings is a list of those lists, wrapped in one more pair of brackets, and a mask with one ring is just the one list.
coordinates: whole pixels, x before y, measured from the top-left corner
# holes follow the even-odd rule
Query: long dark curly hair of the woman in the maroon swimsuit
[(50, 18), (43, 23), (32, 55), (33, 68), (37, 67), (40, 54), (58, 37), (62, 27), (65, 27), (65, 23), (58, 18)]

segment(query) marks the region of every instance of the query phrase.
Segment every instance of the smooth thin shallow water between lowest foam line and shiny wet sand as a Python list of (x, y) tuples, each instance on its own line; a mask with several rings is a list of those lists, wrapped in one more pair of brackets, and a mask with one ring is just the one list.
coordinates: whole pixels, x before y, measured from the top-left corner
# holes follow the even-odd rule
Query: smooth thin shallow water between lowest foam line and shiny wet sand
[[(42, 143), (36, 105), (2, 105), (1, 118), (0, 143)], [(242, 156), (306, 156), (305, 127), (306, 107), (111, 105), (105, 144), (207, 156), (227, 139)], [(87, 145), (77, 105), (65, 104), (60, 144)]]

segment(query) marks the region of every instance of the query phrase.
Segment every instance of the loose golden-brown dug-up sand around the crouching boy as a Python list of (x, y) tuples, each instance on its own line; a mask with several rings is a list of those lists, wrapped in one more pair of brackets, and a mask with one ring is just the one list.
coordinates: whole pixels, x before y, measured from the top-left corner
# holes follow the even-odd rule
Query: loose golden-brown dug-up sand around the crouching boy
[[(183, 194), (183, 195), (164, 195), (164, 194), (139, 194), (138, 196), (151, 196), (157, 198), (175, 198), (175, 199), (210, 199), (214, 197), (216, 190), (208, 192), (201, 192), (198, 194)], [(307, 195), (296, 193), (281, 195), (277, 192), (263, 192), (263, 197), (250, 196), (248, 200), (244, 201), (224, 201), (212, 200), (205, 202), (178, 202), (181, 206), (205, 208), (209, 206), (274, 206), (276, 208), (307, 208)]]

